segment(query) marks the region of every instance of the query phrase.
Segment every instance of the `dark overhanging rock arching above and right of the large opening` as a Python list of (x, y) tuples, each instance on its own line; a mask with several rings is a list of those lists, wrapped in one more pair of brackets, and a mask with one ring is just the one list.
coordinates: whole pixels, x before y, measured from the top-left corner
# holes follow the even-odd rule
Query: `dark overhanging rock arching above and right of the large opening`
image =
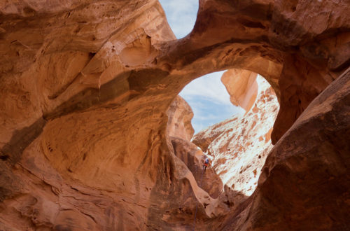
[[(349, 65), (349, 54), (338, 50), (349, 43), (349, 8), (347, 1), (200, 1), (192, 33), (170, 49), (167, 63), (182, 64), (175, 67), (182, 72), (210, 66), (260, 73), (281, 105), (272, 132), (276, 143)], [(336, 59), (343, 60), (339, 69), (332, 66)]]

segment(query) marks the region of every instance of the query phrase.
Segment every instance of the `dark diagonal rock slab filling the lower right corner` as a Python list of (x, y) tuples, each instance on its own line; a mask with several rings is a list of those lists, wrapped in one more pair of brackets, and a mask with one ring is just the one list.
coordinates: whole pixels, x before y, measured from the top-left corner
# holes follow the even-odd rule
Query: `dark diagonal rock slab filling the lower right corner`
[(258, 188), (223, 230), (346, 230), (350, 69), (327, 87), (267, 157)]

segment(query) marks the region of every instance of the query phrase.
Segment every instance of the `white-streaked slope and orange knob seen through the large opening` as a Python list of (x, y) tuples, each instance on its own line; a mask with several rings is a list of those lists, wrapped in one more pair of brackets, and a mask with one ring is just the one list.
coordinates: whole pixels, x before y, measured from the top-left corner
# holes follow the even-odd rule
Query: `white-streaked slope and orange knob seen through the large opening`
[(272, 87), (256, 73), (229, 70), (221, 79), (227, 89), (237, 89), (231, 94), (231, 98), (241, 99), (235, 101), (237, 106), (247, 109), (247, 102), (253, 104), (244, 115), (202, 130), (193, 143), (213, 156), (212, 165), (224, 184), (251, 195), (272, 148), (271, 131), (279, 104)]

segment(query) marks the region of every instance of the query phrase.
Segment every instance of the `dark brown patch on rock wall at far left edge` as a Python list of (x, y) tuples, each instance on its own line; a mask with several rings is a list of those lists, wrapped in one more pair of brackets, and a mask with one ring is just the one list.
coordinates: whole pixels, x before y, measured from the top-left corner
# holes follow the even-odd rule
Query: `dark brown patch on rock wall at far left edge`
[(8, 144), (1, 148), (0, 159), (10, 162), (10, 165), (15, 165), (20, 160), (25, 148), (43, 132), (45, 124), (46, 120), (39, 118), (32, 125), (16, 130)]

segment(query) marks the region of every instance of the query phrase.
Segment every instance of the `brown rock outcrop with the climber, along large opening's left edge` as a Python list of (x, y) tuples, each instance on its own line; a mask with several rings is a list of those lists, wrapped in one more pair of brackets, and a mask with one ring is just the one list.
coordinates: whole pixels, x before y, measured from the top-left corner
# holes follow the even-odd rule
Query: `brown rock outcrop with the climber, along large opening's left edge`
[(246, 195), (224, 186), (213, 167), (204, 171), (203, 163), (209, 155), (205, 155), (198, 146), (190, 142), (193, 136), (190, 123), (193, 111), (186, 101), (176, 97), (169, 106), (167, 115), (174, 165), (184, 179), (174, 192), (176, 203), (166, 211), (165, 221), (168, 227), (181, 229), (181, 224), (190, 224), (195, 217), (197, 228), (203, 229), (204, 221), (228, 215), (246, 200)]

